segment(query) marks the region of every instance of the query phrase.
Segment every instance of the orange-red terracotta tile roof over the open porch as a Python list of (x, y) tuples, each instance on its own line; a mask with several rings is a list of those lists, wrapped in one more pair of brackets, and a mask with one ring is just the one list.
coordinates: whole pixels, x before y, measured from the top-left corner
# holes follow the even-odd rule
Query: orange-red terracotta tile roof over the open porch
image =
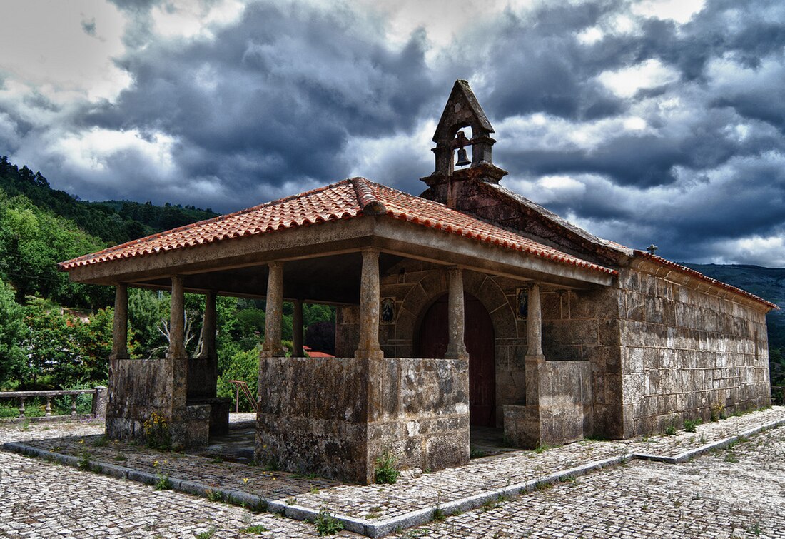
[(58, 266), (60, 270), (68, 271), (78, 266), (155, 255), (159, 252), (192, 248), (276, 230), (316, 225), (319, 222), (349, 219), (363, 214), (387, 214), (402, 221), (473, 238), (501, 248), (523, 251), (542, 259), (611, 275), (618, 273), (462, 214), (444, 204), (412, 196), (365, 178), (338, 181), (299, 195), (181, 226), (60, 262)]

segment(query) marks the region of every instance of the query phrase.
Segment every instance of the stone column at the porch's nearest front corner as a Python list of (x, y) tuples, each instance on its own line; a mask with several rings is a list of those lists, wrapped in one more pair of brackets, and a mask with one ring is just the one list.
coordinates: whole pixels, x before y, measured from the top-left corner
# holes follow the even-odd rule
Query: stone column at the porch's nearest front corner
[(379, 347), (379, 251), (363, 249), (360, 277), (360, 346), (355, 358), (384, 358)]

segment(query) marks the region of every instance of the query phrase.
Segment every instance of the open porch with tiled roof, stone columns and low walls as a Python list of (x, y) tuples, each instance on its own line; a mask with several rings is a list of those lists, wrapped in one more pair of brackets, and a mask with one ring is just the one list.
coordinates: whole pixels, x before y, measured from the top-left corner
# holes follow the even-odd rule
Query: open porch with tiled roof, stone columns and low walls
[[(334, 203), (336, 193), (349, 199), (344, 211), (330, 208), (325, 216), (323, 209), (312, 208), (326, 199)], [(409, 206), (412, 200), (418, 212)], [(262, 222), (245, 223), (254, 212), (264, 214)], [(168, 425), (175, 447), (204, 446), (210, 433), (225, 431), (228, 402), (215, 394), (216, 296), (265, 298), (256, 459), (285, 470), (368, 483), (384, 455), (398, 468), (432, 471), (469, 460), (466, 272), (505, 277), (528, 289), (526, 390), (511, 412), (505, 409), (504, 426), (508, 438), (523, 446), (542, 438), (540, 289), (603, 287), (612, 274), (535, 242), (521, 246), (514, 241), (505, 230), (441, 204), (353, 178), (75, 259), (64, 269), (75, 281), (115, 286), (107, 410), (111, 438), (143, 437), (153, 413)], [(385, 357), (382, 351), (380, 279), (407, 260), (444, 272), (444, 357)], [(166, 358), (129, 358), (128, 287), (170, 290)], [(183, 347), (185, 292), (205, 298), (204, 347), (198, 358), (188, 358)], [(294, 303), (290, 358), (284, 357), (281, 343), (284, 299)], [(302, 305), (309, 302), (357, 306), (353, 354), (305, 357)]]

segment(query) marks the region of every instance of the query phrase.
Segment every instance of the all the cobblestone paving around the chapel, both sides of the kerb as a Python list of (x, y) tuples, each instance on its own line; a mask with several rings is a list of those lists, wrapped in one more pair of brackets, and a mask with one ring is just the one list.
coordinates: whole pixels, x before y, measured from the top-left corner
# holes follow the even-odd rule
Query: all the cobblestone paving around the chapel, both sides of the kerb
[[(205, 457), (158, 453), (138, 446), (102, 446), (101, 424), (0, 424), (0, 442), (141, 468), (181, 479), (296, 497), (298, 505), (389, 518), (499, 486), (549, 475), (591, 460), (626, 453), (676, 455), (707, 442), (785, 419), (779, 407), (700, 425), (696, 433), (626, 442), (581, 442), (542, 453), (522, 451), (473, 460), (469, 466), (404, 477), (394, 486), (338, 485), (321, 479), (265, 472)], [(118, 461), (116, 457), (124, 460)], [(159, 466), (155, 466), (155, 461)], [(785, 428), (769, 431), (714, 456), (670, 465), (633, 460), (549, 490), (516, 497), (409, 530), (401, 537), (785, 537)], [(175, 473), (176, 472), (176, 473)], [(0, 537), (248, 537), (261, 524), (268, 536), (309, 537), (314, 527), (269, 514), (0, 452)], [(248, 479), (247, 482), (244, 479)], [(287, 485), (281, 487), (281, 485)], [(316, 492), (318, 490), (318, 492)], [(125, 527), (122, 527), (125, 526)], [(782, 530), (780, 532), (780, 530)], [(346, 534), (346, 533), (345, 533)], [(782, 534), (779, 535), (778, 534)], [(351, 534), (346, 534), (351, 535)], [(206, 536), (205, 536), (206, 537)]]

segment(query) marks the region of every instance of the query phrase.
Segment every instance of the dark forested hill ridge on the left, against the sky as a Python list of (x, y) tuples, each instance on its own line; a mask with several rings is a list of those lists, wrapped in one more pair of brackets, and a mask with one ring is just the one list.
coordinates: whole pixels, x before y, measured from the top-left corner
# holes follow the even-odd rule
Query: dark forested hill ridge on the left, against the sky
[(9, 198), (23, 195), (36, 207), (75, 222), (80, 229), (108, 244), (122, 244), (217, 215), (210, 208), (170, 203), (156, 206), (128, 200), (86, 202), (68, 192), (52, 189), (40, 172), (34, 173), (27, 166), (19, 168), (5, 156), (0, 156), (0, 190)]

